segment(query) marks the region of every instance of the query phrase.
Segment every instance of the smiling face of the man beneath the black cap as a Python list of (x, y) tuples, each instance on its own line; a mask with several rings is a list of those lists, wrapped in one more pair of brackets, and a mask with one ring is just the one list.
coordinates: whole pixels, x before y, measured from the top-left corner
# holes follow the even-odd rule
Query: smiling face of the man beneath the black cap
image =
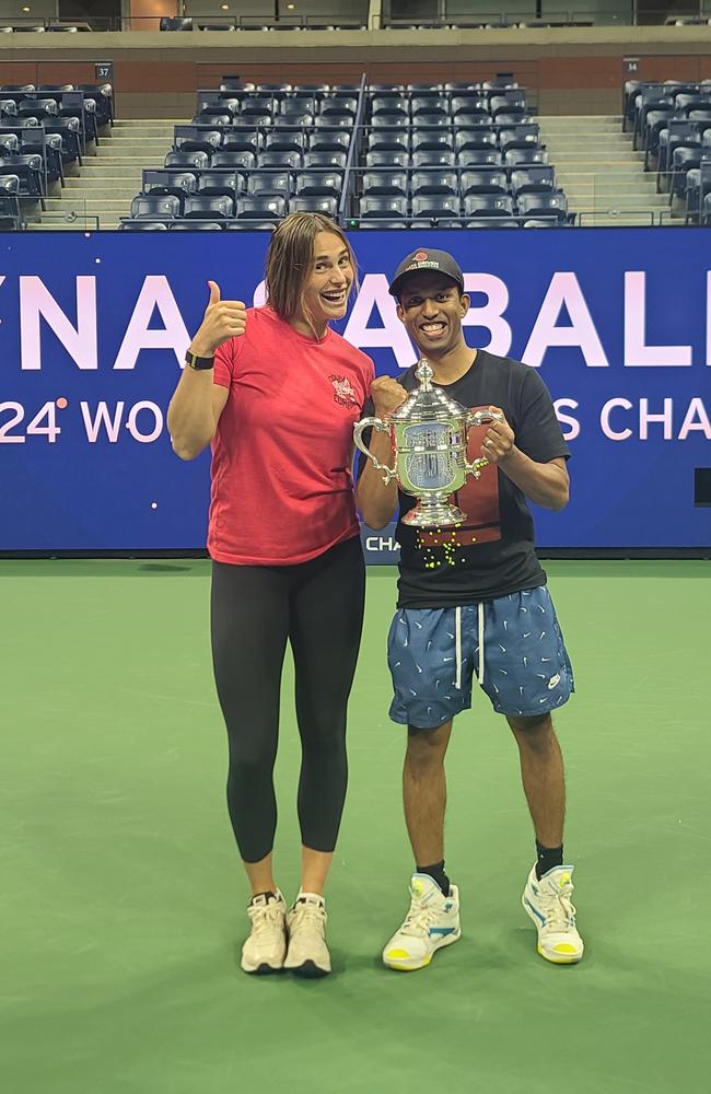
[(397, 304), (398, 318), (424, 357), (443, 357), (462, 340), (462, 319), (469, 298), (444, 274), (418, 272), (406, 278)]

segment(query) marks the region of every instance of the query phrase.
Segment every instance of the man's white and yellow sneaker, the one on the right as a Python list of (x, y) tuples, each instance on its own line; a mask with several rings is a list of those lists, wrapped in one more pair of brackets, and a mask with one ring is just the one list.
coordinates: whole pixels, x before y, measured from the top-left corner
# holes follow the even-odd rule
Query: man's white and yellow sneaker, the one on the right
[(573, 965), (585, 948), (575, 927), (572, 874), (572, 866), (553, 866), (538, 881), (534, 866), (523, 891), (524, 911), (538, 931), (538, 953), (556, 965)]

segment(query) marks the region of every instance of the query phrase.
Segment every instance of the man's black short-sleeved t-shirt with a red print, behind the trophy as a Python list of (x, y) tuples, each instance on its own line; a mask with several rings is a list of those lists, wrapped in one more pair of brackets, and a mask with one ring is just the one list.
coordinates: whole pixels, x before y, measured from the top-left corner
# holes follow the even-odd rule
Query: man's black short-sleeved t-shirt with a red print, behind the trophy
[[(415, 364), (399, 377), (408, 392), (418, 386), (416, 369)], [(548, 388), (535, 369), (478, 350), (471, 368), (442, 386), (471, 410), (501, 407), (516, 447), (537, 463), (570, 455)], [(364, 414), (372, 412), (371, 403)], [(481, 455), (488, 428), (469, 430), (469, 462)], [(399, 492), (400, 516), (416, 500)], [(490, 464), (481, 478), (468, 476), (452, 500), (467, 514), (459, 527), (417, 528), (398, 521), (398, 607), (474, 604), (546, 583), (526, 499), (503, 472)]]

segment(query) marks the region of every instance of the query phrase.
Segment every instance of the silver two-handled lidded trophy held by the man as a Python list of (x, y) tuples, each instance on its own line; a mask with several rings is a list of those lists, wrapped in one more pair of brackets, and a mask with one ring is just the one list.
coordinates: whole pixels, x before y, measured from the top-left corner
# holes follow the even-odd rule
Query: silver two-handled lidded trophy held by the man
[[(489, 463), (479, 458), (467, 461), (469, 426), (503, 421), (503, 415), (491, 410), (467, 410), (451, 399), (441, 387), (432, 386), (432, 369), (422, 359), (415, 373), (420, 386), (385, 418), (362, 418), (353, 427), (357, 446), (374, 466), (383, 472), (387, 485), (397, 479), (404, 493), (418, 499), (417, 505), (403, 517), (404, 524), (417, 527), (442, 527), (461, 524), (466, 513), (453, 505), (450, 496), (461, 490), (467, 475), (475, 479)], [(394, 466), (388, 467), (368, 449), (363, 431), (376, 429), (389, 433)]]

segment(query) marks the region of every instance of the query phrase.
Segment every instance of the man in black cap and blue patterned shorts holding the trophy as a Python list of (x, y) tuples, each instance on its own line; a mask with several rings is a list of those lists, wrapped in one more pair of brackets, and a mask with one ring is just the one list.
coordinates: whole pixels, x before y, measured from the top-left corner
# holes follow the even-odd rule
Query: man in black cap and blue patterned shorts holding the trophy
[[(391, 968), (422, 968), (459, 938), (459, 898), (444, 868), (444, 758), (455, 714), (471, 705), (471, 680), (505, 715), (521, 756), (523, 787), (536, 835), (536, 863), (523, 907), (538, 931), (538, 953), (556, 964), (583, 955), (572, 905), (573, 868), (563, 864), (563, 765), (551, 711), (573, 690), (573, 675), (546, 574), (534, 550), (526, 499), (547, 509), (568, 502), (570, 455), (550, 395), (538, 373), (517, 361), (473, 350), (462, 321), (469, 309), (454, 258), (421, 248), (405, 258), (389, 287), (397, 314), (433, 382), (471, 409), (501, 410), (502, 421), (469, 431), (468, 458), (489, 462), (453, 499), (467, 514), (454, 528), (397, 527), (397, 612), (388, 637), (395, 696), (391, 718), (408, 726), (403, 772), (412, 846), (409, 911), (383, 951)], [(417, 386), (416, 365), (399, 381), (374, 381), (373, 411), (393, 411)], [(369, 414), (369, 409), (365, 409)], [(389, 438), (374, 432), (371, 451), (392, 461)], [(358, 507), (383, 527), (398, 501), (370, 461), (361, 466)], [(399, 493), (400, 516), (415, 499)]]

